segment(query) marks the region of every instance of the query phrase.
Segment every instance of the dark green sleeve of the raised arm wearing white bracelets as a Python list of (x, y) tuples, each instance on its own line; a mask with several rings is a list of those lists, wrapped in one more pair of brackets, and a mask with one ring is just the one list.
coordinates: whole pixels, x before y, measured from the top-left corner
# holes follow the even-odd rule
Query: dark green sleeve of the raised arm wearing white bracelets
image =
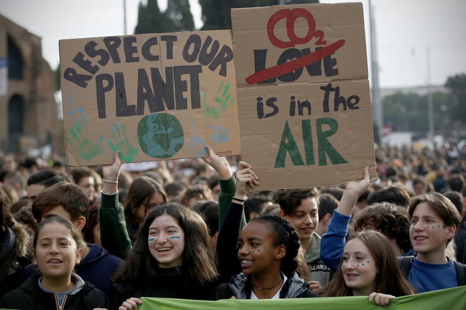
[(126, 231), (125, 214), (118, 202), (118, 193), (102, 194), (99, 207), (100, 242), (110, 254), (125, 259), (131, 250), (131, 239)]

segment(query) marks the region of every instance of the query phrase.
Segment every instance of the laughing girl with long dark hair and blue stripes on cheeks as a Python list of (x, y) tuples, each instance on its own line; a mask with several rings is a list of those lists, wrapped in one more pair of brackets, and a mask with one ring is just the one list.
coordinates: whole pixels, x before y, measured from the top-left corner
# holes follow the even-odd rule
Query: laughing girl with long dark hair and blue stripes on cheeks
[(137, 309), (139, 297), (212, 299), (216, 269), (200, 215), (179, 203), (153, 209), (110, 287), (112, 309)]

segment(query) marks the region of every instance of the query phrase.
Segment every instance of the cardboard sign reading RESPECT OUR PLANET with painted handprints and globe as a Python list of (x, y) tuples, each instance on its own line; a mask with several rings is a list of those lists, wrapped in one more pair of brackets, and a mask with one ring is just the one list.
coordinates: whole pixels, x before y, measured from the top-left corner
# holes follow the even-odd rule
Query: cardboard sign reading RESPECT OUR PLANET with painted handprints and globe
[(240, 153), (231, 32), (60, 41), (69, 166)]

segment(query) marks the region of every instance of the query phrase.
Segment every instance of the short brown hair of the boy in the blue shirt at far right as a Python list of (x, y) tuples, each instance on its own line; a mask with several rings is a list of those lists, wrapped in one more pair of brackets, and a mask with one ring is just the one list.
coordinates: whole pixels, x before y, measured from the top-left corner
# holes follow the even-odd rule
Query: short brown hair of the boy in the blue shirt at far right
[[(413, 198), (408, 208), (410, 219), (413, 217), (416, 206), (421, 202), (427, 202), (431, 206), (433, 211), (442, 218), (444, 226), (454, 225), (456, 227), (456, 232), (458, 232), (458, 228), (461, 224), (461, 216), (453, 202), (451, 202), (447, 197), (435, 192), (416, 196)], [(447, 241), (447, 245), (450, 241), (451, 239)]]

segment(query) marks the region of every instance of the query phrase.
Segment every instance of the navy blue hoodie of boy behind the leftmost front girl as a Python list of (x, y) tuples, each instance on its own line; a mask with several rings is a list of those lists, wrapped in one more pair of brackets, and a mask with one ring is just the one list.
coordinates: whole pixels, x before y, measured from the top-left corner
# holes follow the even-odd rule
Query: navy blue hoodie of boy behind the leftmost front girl
[[(89, 253), (75, 267), (75, 272), (84, 281), (89, 281), (100, 291), (108, 295), (111, 284), (111, 278), (116, 269), (123, 262), (121, 258), (113, 256), (106, 249), (96, 245), (87, 244)], [(24, 283), (31, 275), (39, 272), (33, 264), (26, 266), (21, 274), (21, 282)]]

